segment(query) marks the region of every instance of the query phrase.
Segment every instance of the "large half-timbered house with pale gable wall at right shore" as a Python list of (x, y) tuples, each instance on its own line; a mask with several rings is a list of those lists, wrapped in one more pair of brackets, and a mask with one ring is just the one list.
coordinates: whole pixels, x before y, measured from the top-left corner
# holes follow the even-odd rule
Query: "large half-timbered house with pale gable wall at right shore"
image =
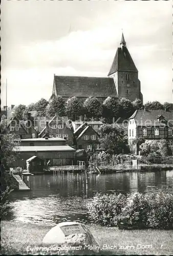
[(137, 139), (166, 139), (172, 146), (173, 112), (165, 110), (136, 110), (128, 121), (128, 144), (130, 150), (139, 153)]

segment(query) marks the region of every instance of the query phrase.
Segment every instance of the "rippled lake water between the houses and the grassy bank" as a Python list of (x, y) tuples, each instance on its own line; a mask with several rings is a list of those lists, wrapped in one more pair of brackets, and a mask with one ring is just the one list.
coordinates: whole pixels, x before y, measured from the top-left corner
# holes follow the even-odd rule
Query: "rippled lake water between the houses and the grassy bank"
[(35, 175), (30, 191), (13, 191), (12, 219), (55, 225), (63, 221), (89, 223), (86, 204), (97, 193), (157, 193), (172, 191), (172, 170), (115, 174)]

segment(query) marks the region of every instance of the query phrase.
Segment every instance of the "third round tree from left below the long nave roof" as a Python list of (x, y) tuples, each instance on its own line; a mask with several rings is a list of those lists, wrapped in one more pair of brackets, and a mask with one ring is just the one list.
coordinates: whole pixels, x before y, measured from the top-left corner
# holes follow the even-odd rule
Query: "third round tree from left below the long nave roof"
[(84, 103), (85, 113), (89, 117), (99, 116), (102, 112), (101, 102), (96, 97), (87, 98)]

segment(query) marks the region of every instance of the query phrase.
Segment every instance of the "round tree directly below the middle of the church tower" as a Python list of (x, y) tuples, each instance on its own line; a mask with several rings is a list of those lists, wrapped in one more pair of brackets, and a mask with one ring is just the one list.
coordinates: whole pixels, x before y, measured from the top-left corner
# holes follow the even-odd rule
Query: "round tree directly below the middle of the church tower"
[(129, 118), (135, 111), (132, 102), (129, 99), (121, 98), (118, 100), (119, 116), (122, 118)]

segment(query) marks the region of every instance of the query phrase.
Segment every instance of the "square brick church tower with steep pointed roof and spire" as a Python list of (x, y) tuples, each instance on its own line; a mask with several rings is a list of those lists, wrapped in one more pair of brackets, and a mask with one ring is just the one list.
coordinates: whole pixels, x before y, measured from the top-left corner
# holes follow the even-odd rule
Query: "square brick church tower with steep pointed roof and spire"
[(127, 98), (131, 101), (140, 99), (143, 102), (138, 70), (128, 52), (123, 33), (120, 46), (117, 49), (108, 76), (114, 79), (118, 97)]

